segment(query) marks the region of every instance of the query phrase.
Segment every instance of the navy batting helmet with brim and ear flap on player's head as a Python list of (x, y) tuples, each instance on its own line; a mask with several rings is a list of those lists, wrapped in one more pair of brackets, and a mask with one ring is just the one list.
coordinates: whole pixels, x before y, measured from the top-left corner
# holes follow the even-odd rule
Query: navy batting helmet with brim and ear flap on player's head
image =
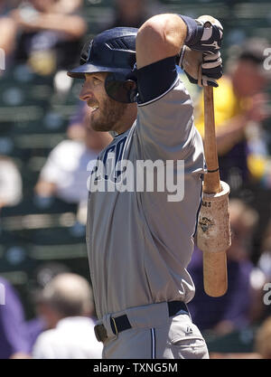
[(118, 102), (136, 100), (136, 85), (129, 75), (135, 66), (135, 37), (132, 27), (115, 27), (99, 33), (85, 43), (79, 67), (68, 72), (72, 78), (84, 79), (85, 73), (109, 72), (105, 80), (107, 95)]

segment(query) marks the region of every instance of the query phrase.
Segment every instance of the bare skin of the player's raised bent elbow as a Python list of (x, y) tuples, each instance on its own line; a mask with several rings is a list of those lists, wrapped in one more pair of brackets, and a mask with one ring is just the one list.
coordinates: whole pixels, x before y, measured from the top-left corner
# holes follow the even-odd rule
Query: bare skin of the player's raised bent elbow
[(177, 14), (157, 14), (143, 24), (136, 37), (136, 53), (154, 55), (161, 60), (180, 52), (186, 26)]

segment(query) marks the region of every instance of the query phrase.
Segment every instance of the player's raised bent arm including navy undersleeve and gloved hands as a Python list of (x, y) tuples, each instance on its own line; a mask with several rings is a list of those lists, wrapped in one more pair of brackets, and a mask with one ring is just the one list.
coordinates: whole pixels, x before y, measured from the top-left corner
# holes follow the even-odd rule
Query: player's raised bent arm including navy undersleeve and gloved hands
[(196, 20), (182, 14), (149, 18), (135, 41), (138, 105), (161, 99), (173, 89), (176, 63), (192, 83), (218, 86), (222, 30), (220, 22), (207, 15)]

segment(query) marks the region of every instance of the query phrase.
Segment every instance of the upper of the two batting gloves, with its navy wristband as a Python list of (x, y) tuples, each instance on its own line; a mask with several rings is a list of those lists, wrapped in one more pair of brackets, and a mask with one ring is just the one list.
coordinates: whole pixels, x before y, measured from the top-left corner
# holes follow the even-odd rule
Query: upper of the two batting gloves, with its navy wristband
[(201, 16), (193, 20), (180, 15), (187, 26), (185, 44), (192, 50), (216, 53), (221, 47), (223, 27), (220, 22), (210, 16)]

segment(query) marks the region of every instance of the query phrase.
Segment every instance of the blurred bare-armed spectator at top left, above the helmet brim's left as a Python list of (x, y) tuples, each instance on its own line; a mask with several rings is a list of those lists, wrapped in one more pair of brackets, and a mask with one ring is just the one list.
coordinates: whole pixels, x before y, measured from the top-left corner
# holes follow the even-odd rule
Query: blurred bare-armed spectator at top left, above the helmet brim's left
[(47, 75), (75, 64), (87, 24), (79, 0), (29, 0), (12, 11), (18, 30), (15, 60)]

